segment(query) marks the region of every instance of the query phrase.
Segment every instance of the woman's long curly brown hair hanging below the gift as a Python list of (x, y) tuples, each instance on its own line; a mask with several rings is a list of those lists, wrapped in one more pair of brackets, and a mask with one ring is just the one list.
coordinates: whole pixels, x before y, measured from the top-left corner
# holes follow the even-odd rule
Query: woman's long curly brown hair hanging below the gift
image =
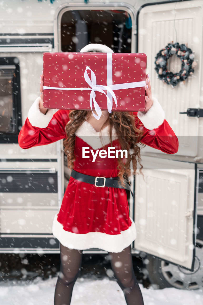
[[(69, 122), (66, 124), (66, 134), (67, 139), (63, 141), (64, 152), (67, 155), (68, 168), (74, 168), (75, 154), (75, 132), (80, 127), (80, 125), (91, 116), (91, 111), (87, 110), (70, 110), (69, 112)], [(125, 162), (122, 161), (121, 156), (118, 157), (118, 166), (119, 170), (118, 177), (119, 183), (124, 186), (124, 180), (128, 179), (131, 175), (130, 170), (130, 162), (132, 161), (133, 165), (133, 174), (138, 174), (137, 170), (137, 161), (140, 164), (140, 173), (144, 177), (142, 173), (143, 166), (141, 165), (141, 156), (140, 156), (140, 147), (138, 143), (140, 142), (141, 136), (143, 135), (143, 131), (138, 129), (135, 126), (135, 115), (132, 112), (116, 112), (112, 111), (109, 114), (109, 117), (106, 119), (104, 124), (102, 125), (102, 129), (109, 125), (109, 137), (110, 143), (112, 146), (112, 128), (115, 127), (116, 135), (119, 135), (119, 144), (121, 149), (126, 149), (128, 154), (127, 158), (123, 158)], [(102, 142), (100, 131), (100, 140)], [(145, 146), (144, 144), (141, 144)], [(131, 154), (130, 154), (131, 150)]]

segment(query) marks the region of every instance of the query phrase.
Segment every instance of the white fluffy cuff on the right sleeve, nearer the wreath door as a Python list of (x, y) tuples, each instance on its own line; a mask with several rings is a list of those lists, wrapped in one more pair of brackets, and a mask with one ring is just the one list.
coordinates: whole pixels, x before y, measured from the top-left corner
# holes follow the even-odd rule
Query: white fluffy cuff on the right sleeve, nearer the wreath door
[(144, 127), (149, 130), (158, 128), (165, 119), (165, 112), (159, 104), (158, 99), (152, 98), (153, 104), (146, 113), (138, 111), (137, 117), (141, 120)]

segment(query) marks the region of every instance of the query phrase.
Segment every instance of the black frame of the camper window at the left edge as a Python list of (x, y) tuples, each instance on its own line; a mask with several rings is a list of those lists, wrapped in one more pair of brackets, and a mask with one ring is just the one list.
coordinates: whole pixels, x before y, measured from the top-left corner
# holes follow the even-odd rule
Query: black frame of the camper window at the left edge
[(13, 98), (13, 119), (16, 121), (16, 129), (14, 132), (0, 131), (0, 143), (12, 144), (18, 143), (18, 135), (22, 127), (22, 114), (21, 114), (21, 93), (20, 93), (20, 63), (17, 57), (0, 57), (1, 66), (15, 66), (15, 81), (13, 82), (12, 98)]

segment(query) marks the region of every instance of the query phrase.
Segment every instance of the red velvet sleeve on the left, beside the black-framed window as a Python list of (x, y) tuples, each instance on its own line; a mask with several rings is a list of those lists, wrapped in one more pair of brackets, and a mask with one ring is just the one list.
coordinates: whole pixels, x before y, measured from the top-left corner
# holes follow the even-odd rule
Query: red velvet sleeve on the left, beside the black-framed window
[(46, 128), (32, 126), (27, 118), (18, 136), (19, 146), (23, 149), (28, 149), (67, 138), (65, 126), (68, 121), (69, 110), (58, 110), (54, 113)]

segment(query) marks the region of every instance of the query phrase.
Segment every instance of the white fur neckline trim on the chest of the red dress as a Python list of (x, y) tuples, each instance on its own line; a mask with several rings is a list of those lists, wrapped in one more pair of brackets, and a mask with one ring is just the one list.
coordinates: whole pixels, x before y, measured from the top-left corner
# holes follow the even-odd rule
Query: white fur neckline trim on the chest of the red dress
[[(94, 127), (88, 123), (87, 121), (84, 121), (82, 125), (77, 129), (75, 132), (75, 135), (81, 138), (84, 142), (86, 142), (88, 145), (90, 145), (93, 149), (99, 149), (102, 148), (104, 145), (107, 145), (110, 143), (110, 137), (109, 137), (109, 126), (106, 126), (101, 131), (101, 138), (102, 142), (99, 138), (99, 132), (97, 132)], [(112, 141), (117, 139), (116, 135), (116, 129), (112, 128)]]

